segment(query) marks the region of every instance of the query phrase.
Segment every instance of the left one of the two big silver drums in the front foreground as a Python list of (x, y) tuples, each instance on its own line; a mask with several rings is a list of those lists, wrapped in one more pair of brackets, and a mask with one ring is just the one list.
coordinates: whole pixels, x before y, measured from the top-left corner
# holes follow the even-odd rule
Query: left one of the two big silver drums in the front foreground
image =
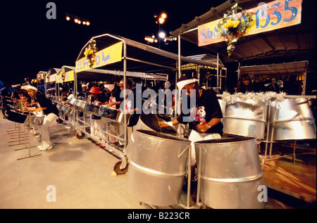
[(134, 133), (127, 191), (151, 205), (178, 203), (190, 141), (147, 130)]

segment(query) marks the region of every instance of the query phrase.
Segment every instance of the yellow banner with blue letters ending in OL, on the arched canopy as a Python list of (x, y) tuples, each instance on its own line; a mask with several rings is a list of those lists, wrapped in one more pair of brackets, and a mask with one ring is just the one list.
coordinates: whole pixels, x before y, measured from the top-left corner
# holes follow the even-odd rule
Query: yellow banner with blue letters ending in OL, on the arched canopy
[(92, 68), (99, 68), (107, 64), (121, 61), (123, 42), (118, 42), (107, 47), (95, 54), (94, 65), (89, 66), (87, 58), (82, 58), (76, 61), (76, 72), (82, 72)]

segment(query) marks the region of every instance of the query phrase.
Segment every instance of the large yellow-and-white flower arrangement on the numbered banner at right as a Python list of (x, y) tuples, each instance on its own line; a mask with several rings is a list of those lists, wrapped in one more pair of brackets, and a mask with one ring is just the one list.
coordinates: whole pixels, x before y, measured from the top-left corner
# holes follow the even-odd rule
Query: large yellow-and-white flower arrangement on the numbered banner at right
[[(238, 14), (240, 15), (239, 17)], [(227, 14), (224, 14), (223, 18), (220, 19), (217, 27), (220, 31), (220, 36), (225, 37), (225, 42), (228, 44), (228, 57), (230, 57), (235, 50), (237, 40), (242, 37), (247, 31), (247, 28), (251, 26), (253, 14), (251, 11), (247, 12), (246, 10), (242, 10), (240, 6), (235, 4), (227, 11)]]

